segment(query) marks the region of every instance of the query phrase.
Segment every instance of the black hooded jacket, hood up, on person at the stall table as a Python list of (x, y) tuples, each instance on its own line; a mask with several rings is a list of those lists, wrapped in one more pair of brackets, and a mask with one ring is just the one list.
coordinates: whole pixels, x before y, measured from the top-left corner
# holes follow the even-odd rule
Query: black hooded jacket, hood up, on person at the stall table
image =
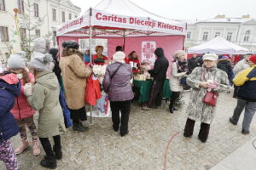
[(154, 69), (148, 71), (148, 73), (154, 77), (154, 81), (163, 82), (166, 80), (169, 61), (166, 59), (162, 48), (156, 48), (154, 54), (157, 56), (157, 59), (154, 61)]

